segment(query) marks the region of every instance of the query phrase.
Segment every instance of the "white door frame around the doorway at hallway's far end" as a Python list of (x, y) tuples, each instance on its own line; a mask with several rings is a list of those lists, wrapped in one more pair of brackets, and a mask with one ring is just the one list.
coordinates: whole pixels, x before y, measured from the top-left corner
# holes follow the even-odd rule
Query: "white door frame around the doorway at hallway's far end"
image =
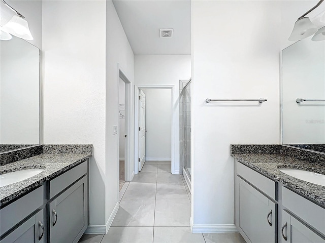
[[(134, 173), (139, 173), (139, 89), (170, 89), (172, 91), (172, 120), (171, 120), (171, 172), (172, 174), (179, 174), (179, 170), (175, 171), (175, 141), (179, 141), (178, 133), (175, 131), (176, 124), (176, 107), (175, 107), (175, 85), (140, 85), (135, 86), (135, 99), (134, 99)], [(178, 137), (177, 137), (178, 136)], [(179, 143), (178, 143), (179, 145)]]

